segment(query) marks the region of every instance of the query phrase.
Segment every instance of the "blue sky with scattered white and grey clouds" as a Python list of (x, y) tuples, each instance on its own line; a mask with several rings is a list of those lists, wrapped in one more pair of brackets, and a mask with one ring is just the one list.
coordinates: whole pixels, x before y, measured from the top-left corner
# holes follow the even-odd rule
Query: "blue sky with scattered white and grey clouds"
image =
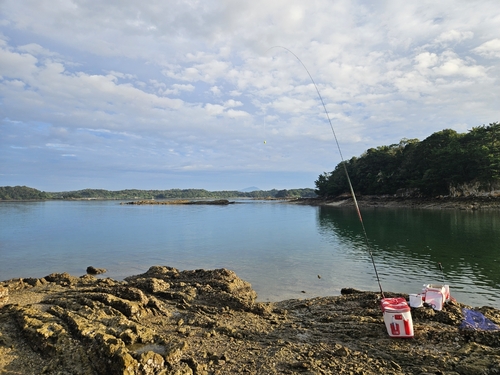
[(314, 188), (499, 121), (499, 30), (498, 0), (0, 0), (0, 186)]

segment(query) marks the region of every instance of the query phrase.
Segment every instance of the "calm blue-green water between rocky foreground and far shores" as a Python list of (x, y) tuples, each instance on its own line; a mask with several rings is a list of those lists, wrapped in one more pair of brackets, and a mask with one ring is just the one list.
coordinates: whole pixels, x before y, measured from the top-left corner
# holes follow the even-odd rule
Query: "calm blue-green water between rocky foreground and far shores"
[[(1, 203), (0, 280), (82, 275), (89, 265), (122, 279), (168, 265), (234, 270), (260, 301), (378, 290), (353, 208), (119, 203)], [(500, 308), (500, 212), (378, 208), (363, 217), (384, 290), (418, 293), (445, 280), (458, 301)]]

